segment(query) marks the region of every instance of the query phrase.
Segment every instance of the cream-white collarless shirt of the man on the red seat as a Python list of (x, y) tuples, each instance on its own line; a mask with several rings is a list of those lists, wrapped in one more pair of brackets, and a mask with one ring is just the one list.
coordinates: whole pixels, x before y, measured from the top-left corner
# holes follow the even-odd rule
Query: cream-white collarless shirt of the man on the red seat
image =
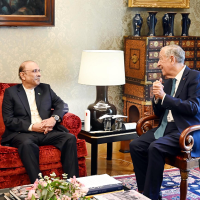
[(29, 126), (28, 130), (32, 131), (33, 124), (42, 122), (42, 119), (39, 115), (36, 101), (35, 101), (35, 90), (34, 89), (26, 89), (24, 86), (23, 86), (23, 88), (26, 92), (26, 96), (27, 96), (30, 111), (31, 111), (31, 125)]

